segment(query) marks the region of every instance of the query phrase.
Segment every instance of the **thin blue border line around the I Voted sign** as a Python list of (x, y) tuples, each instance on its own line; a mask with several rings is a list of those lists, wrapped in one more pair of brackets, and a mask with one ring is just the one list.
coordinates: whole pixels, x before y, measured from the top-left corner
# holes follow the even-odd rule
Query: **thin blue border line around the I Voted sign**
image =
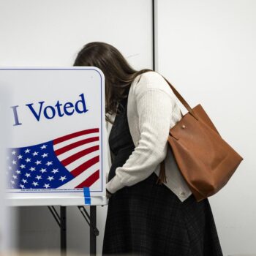
[[(4, 69), (4, 68), (0, 68), (0, 70), (72, 70), (72, 71), (74, 71), (74, 70), (94, 70), (94, 71), (96, 71), (96, 72), (98, 72), (99, 73), (99, 71), (97, 70), (97, 69), (91, 69), (91, 68), (89, 68), (89, 69), (83, 69), (83, 68), (79, 68), (79, 69), (71, 69), (71, 68), (62, 68), (62, 69), (60, 69), (60, 68), (56, 68), (56, 69), (47, 69), (47, 68), (42, 68), (42, 69), (39, 69), (39, 68), (28, 68), (28, 69), (26, 69), (26, 68), (17, 68), (17, 69), (15, 69), (15, 68), (6, 68), (6, 69)], [(101, 116), (101, 118), (100, 118), (100, 123), (101, 123), (101, 138), (102, 138), (102, 75), (99, 73), (99, 77), (100, 77), (100, 116)], [(102, 141), (101, 141), (101, 157), (102, 157)], [(103, 157), (102, 157), (102, 161), (101, 162), (103, 162)], [(101, 166), (102, 167), (102, 166)], [(102, 167), (102, 170), (103, 170), (103, 167)], [(101, 176), (102, 176), (102, 170), (101, 170)], [(102, 188), (103, 188), (103, 179), (102, 179)], [(61, 189), (61, 190), (64, 190), (64, 189)], [(69, 189), (66, 189), (66, 190), (69, 190)], [(77, 189), (76, 189), (77, 190)], [(33, 189), (31, 189), (31, 191), (28, 191), (28, 192), (25, 192), (25, 191), (17, 191), (17, 192), (8, 192), (8, 193), (10, 193), (10, 194), (12, 194), (12, 193), (67, 193), (67, 192), (71, 192), (71, 193), (83, 193), (83, 189), (79, 189), (79, 191), (73, 191), (73, 190), (71, 190), (71, 191), (33, 191)], [(103, 189), (102, 190), (92, 190), (91, 192), (102, 192), (103, 191)]]

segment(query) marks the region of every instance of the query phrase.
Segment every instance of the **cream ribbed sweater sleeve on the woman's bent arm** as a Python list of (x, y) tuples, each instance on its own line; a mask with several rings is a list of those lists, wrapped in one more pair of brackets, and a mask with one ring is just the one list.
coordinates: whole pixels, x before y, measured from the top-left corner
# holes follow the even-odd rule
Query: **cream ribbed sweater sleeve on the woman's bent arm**
[(148, 88), (136, 102), (140, 140), (124, 165), (116, 168), (116, 176), (106, 184), (112, 193), (143, 181), (156, 170), (167, 154), (174, 103), (172, 97), (162, 89)]

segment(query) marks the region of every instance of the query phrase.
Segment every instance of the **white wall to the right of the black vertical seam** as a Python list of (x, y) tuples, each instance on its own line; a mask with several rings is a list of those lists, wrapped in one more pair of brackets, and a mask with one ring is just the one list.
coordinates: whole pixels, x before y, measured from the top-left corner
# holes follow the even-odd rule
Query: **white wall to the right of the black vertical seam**
[(157, 18), (157, 71), (244, 157), (209, 197), (223, 252), (256, 255), (256, 1), (158, 0)]

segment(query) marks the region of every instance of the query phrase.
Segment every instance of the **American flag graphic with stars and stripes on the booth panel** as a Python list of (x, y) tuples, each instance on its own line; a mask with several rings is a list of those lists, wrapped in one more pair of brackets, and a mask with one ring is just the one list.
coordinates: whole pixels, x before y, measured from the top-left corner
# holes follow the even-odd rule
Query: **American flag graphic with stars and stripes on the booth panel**
[(7, 148), (8, 189), (81, 189), (99, 180), (99, 128)]

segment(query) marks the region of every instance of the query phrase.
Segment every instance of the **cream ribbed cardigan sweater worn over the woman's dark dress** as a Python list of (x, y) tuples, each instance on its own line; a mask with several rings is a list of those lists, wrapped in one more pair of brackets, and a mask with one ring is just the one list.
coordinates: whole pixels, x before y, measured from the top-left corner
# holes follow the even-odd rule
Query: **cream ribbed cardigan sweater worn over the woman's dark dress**
[[(181, 176), (176, 160), (167, 143), (169, 129), (181, 119), (176, 96), (162, 75), (150, 71), (132, 81), (127, 99), (129, 131), (135, 149), (123, 166), (116, 168), (116, 176), (107, 179), (106, 188), (115, 193), (124, 186), (132, 186), (155, 172), (165, 159), (167, 183), (164, 184), (183, 202), (192, 194)], [(109, 116), (114, 120), (115, 115)], [(112, 124), (106, 122), (108, 136)], [(108, 161), (111, 164), (108, 145)], [(108, 172), (107, 177), (108, 178)]]

